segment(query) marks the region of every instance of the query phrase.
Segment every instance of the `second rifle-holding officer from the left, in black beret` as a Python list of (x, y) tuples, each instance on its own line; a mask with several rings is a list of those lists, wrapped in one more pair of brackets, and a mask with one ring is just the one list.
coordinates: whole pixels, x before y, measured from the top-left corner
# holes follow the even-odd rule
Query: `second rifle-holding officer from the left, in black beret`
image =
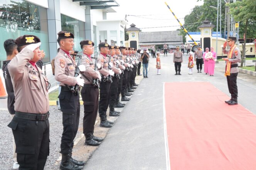
[[(99, 108), (99, 84), (101, 75), (99, 71), (95, 71), (95, 64), (91, 55), (94, 52), (94, 42), (90, 40), (83, 40), (80, 42), (83, 50), (81, 65), (86, 68), (81, 76), (84, 79), (84, 87), (81, 90), (82, 100), (84, 102), (84, 119), (83, 119), (83, 133), (85, 135), (85, 144), (91, 146), (98, 146), (103, 141), (103, 138), (96, 137), (94, 133), (94, 124), (98, 114)], [(98, 69), (101, 65), (96, 63)]]

